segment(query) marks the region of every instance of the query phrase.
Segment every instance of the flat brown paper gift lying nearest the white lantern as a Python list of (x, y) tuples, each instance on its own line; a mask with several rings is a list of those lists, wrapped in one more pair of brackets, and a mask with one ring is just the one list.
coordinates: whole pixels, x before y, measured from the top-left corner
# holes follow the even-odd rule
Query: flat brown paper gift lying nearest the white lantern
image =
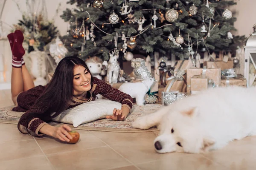
[(237, 77), (234, 78), (221, 78), (221, 87), (227, 86), (241, 86), (247, 87), (247, 81), (243, 75), (238, 74)]

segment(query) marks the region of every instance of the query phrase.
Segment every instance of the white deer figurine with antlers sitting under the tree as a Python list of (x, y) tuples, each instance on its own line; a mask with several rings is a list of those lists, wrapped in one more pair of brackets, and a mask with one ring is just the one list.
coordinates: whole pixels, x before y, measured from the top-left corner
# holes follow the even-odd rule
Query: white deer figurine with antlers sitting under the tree
[(119, 70), (120, 66), (117, 62), (118, 59), (118, 52), (113, 51), (112, 54), (109, 53), (109, 62), (107, 63), (104, 61), (102, 64), (107, 66), (108, 65), (108, 70), (107, 70), (107, 79), (109, 83), (117, 83), (117, 79), (119, 76)]

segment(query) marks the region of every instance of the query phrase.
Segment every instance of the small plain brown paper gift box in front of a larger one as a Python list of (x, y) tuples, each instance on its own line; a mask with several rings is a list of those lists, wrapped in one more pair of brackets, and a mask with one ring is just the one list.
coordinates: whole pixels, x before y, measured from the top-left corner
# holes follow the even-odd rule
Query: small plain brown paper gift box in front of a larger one
[(196, 94), (199, 91), (206, 90), (208, 88), (208, 77), (193, 76), (191, 77), (191, 94)]

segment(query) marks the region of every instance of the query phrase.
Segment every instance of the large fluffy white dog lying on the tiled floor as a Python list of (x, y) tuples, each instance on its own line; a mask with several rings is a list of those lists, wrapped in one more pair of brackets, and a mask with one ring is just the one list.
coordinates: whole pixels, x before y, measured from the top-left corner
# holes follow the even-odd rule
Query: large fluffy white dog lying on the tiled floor
[(132, 126), (157, 125), (158, 153), (202, 153), (256, 135), (256, 88), (212, 88), (138, 117)]

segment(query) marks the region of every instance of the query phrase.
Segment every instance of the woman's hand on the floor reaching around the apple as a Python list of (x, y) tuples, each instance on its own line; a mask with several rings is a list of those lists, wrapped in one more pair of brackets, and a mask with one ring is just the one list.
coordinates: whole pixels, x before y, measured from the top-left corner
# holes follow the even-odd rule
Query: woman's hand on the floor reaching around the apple
[(60, 127), (55, 127), (52, 136), (63, 142), (70, 142), (70, 139), (72, 139), (72, 136), (68, 133), (70, 131), (71, 128), (68, 125), (61, 125)]

